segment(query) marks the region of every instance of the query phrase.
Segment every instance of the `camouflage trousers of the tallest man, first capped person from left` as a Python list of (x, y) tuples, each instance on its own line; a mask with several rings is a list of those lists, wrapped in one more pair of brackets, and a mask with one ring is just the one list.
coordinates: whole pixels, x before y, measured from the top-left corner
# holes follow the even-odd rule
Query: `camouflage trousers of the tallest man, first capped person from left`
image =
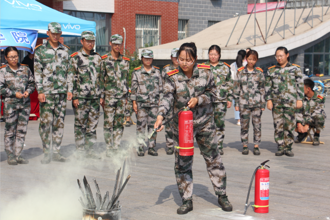
[[(39, 102), (40, 124), (39, 134), (44, 153), (50, 153), (50, 141), (52, 140), (53, 152), (60, 152), (64, 118), (66, 116), (66, 94), (45, 94), (46, 101)], [(52, 129), (52, 131), (50, 131)]]

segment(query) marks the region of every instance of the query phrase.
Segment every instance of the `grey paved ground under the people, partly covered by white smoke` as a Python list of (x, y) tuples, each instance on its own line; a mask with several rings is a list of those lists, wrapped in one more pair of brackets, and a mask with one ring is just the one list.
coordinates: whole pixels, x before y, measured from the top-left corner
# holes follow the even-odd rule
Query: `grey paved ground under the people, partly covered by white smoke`
[[(330, 116), (330, 101), (327, 100), (326, 112)], [(86, 175), (95, 194), (92, 179), (96, 178), (101, 193), (112, 194), (115, 173), (124, 158), (128, 158), (126, 175), (132, 178), (120, 196), (122, 219), (230, 219), (230, 220), (329, 220), (330, 219), (330, 163), (329, 144), (330, 125), (321, 133), (325, 145), (295, 144), (294, 157), (275, 157), (276, 144), (273, 138), (272, 116), (265, 110), (262, 116), (263, 133), (261, 155), (241, 154), (240, 127), (235, 125), (232, 108), (226, 119), (225, 154), (222, 156), (227, 171), (227, 195), (233, 211), (226, 213), (219, 208), (212, 184), (206, 172), (205, 163), (195, 144), (194, 158), (194, 211), (187, 215), (177, 215), (181, 205), (174, 178), (174, 156), (165, 153), (165, 133), (157, 138), (159, 156), (138, 157), (132, 147), (135, 143), (136, 126), (125, 128), (123, 147), (119, 155), (102, 160), (88, 160), (77, 163), (74, 157), (73, 120), (71, 103), (66, 113), (65, 135), (62, 152), (71, 158), (70, 163), (51, 162), (41, 165), (43, 157), (41, 140), (38, 133), (39, 121), (30, 121), (26, 137), (26, 147), (22, 156), (29, 159), (28, 165), (9, 166), (3, 148), (3, 127), (1, 123), (1, 219), (3, 220), (79, 220), (82, 216), (81, 205), (77, 201), (80, 191), (77, 179)], [(135, 117), (134, 117), (135, 120)], [(105, 152), (103, 140), (103, 114), (97, 129), (99, 152)], [(252, 125), (250, 126), (252, 128)], [(251, 129), (252, 130), (252, 129)], [(250, 132), (250, 141), (252, 132)], [(250, 149), (253, 145), (250, 144)], [(244, 204), (248, 186), (255, 168), (269, 159), (270, 200), (269, 213), (256, 214), (254, 187), (251, 191), (249, 207), (244, 214)], [(253, 184), (254, 185), (254, 184)]]

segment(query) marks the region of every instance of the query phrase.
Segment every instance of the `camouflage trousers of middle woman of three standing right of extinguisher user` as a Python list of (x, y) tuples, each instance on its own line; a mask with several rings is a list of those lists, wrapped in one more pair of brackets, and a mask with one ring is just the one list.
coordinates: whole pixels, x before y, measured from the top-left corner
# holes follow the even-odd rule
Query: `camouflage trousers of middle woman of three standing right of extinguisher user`
[(253, 125), (253, 144), (260, 145), (261, 142), (261, 107), (240, 108), (239, 117), (241, 118), (241, 141), (242, 145), (249, 144), (250, 117)]

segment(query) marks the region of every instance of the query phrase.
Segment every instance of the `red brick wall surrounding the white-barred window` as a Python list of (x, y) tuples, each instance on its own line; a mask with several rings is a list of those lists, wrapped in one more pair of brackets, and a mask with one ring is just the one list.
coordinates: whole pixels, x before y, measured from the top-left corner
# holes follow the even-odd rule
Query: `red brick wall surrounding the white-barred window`
[(148, 14), (161, 16), (161, 44), (178, 39), (177, 0), (115, 0), (115, 13), (111, 18), (111, 34), (124, 37), (126, 29), (126, 48), (135, 51), (135, 15)]

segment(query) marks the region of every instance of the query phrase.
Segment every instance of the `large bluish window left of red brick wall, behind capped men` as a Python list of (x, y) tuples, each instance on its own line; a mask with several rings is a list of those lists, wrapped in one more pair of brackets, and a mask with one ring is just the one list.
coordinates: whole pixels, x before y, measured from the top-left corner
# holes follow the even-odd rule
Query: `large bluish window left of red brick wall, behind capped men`
[[(106, 54), (111, 50), (109, 45), (111, 37), (111, 14), (109, 13), (96, 13), (84, 11), (68, 11), (64, 10), (63, 13), (71, 15), (76, 18), (81, 18), (87, 21), (96, 22), (96, 50), (95, 52), (100, 55)], [(81, 37), (64, 37), (64, 44), (70, 47), (70, 53), (74, 53), (81, 49)]]

